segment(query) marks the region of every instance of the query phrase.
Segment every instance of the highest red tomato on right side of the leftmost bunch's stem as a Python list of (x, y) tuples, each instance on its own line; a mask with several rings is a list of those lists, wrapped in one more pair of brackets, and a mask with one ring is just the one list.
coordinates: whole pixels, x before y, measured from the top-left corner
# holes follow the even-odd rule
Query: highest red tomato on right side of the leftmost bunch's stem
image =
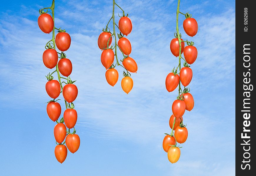
[(55, 38), (56, 47), (60, 51), (67, 51), (71, 44), (70, 35), (66, 32), (59, 32)]

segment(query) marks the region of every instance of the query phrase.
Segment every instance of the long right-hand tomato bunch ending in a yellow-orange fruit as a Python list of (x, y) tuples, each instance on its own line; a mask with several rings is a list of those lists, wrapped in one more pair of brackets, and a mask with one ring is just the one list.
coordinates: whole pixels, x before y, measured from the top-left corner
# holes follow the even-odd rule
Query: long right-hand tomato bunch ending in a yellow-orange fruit
[[(179, 11), (179, 3), (180, 0), (178, 0), (177, 19), (179, 13), (181, 13)], [(198, 30), (197, 21), (194, 18), (191, 18), (189, 13), (181, 14), (186, 16), (186, 19), (183, 22), (184, 31), (187, 35), (193, 37)], [(189, 64), (193, 64), (197, 58), (197, 48), (193, 46), (194, 43), (182, 40), (181, 34), (179, 33), (178, 20), (176, 24), (175, 38), (171, 40), (170, 50), (174, 56), (179, 57), (179, 65), (176, 69), (174, 67), (172, 72), (169, 73), (165, 79), (165, 86), (168, 92), (174, 91), (177, 87), (179, 92), (177, 99), (172, 103), (172, 115), (169, 119), (169, 126), (172, 131), (170, 134), (165, 133), (166, 136), (163, 140), (163, 149), (167, 152), (168, 160), (171, 163), (176, 163), (180, 157), (180, 147), (177, 146), (177, 143), (184, 143), (188, 136), (187, 128), (183, 124), (183, 115), (186, 110), (191, 111), (194, 107), (194, 99), (189, 93), (190, 89), (187, 86), (191, 82), (193, 76)], [(186, 47), (185, 43), (187, 43)], [(184, 60), (184, 67), (182, 68), (181, 59)], [(181, 89), (181, 84), (184, 86), (183, 91)]]

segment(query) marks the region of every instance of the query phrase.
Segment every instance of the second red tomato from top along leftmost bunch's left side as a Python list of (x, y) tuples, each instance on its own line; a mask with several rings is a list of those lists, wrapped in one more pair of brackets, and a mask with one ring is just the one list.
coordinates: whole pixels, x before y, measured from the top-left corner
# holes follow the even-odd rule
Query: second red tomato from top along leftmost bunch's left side
[(54, 49), (47, 49), (43, 53), (43, 62), (45, 67), (52, 69), (58, 63), (58, 53)]

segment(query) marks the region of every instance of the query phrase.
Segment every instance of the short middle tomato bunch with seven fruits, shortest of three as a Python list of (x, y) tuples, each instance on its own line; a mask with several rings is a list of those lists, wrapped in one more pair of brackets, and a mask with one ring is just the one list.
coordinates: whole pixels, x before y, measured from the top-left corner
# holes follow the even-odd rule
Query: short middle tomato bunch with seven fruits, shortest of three
[[(128, 38), (124, 37), (124, 35), (129, 35), (132, 32), (132, 21), (128, 17), (128, 14), (125, 15), (123, 11), (123, 16), (120, 17), (118, 25), (115, 23), (115, 16), (114, 16), (114, 8), (115, 6), (119, 7), (115, 1), (113, 1), (113, 15), (110, 18), (109, 22), (113, 21), (113, 32), (110, 31), (108, 28), (109, 22), (106, 25), (106, 28), (103, 28), (103, 32), (99, 35), (98, 38), (98, 46), (99, 49), (102, 50), (101, 54), (101, 63), (106, 68), (105, 77), (111, 86), (114, 87), (114, 85), (118, 81), (118, 71), (115, 69), (117, 65), (122, 66), (125, 71), (123, 72), (123, 79), (121, 81), (121, 87), (125, 93), (129, 93), (132, 90), (133, 87), (133, 80), (130, 77), (132, 73), (137, 73), (138, 66), (135, 60), (130, 57), (130, 54), (132, 53), (132, 45)], [(118, 34), (116, 34), (115, 26), (119, 29)], [(118, 36), (118, 42), (117, 42), (117, 36)], [(112, 39), (114, 38), (114, 44), (112, 44)], [(119, 63), (117, 59), (117, 48), (120, 50), (120, 52), (123, 55), (123, 59), (120, 61), (122, 64)], [(113, 51), (114, 50), (114, 51)], [(116, 63), (114, 63), (114, 60), (116, 59)]]

